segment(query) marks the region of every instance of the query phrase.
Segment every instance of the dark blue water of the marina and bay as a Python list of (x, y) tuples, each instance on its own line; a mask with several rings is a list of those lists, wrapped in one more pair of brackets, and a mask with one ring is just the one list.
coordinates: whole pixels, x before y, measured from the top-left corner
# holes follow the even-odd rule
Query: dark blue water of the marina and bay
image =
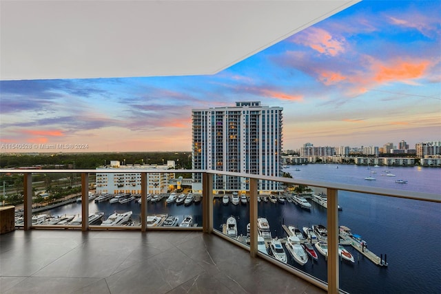
[[(300, 171), (295, 171), (298, 167)], [(305, 165), (291, 166), (285, 169), (294, 178), (304, 180), (323, 180), (341, 182), (351, 185), (383, 187), (422, 191), (441, 195), (441, 169), (419, 167), (389, 167), (396, 177), (381, 176), (386, 174), (387, 167), (367, 167), (356, 165)], [(371, 173), (376, 171), (376, 174)], [(368, 175), (375, 181), (367, 181)], [(395, 180), (408, 180), (407, 184), (398, 184)], [(313, 187), (311, 187), (313, 188)], [(440, 196), (441, 197), (441, 196)], [(346, 246), (356, 259), (355, 264), (340, 262), (340, 288), (349, 293), (441, 293), (441, 204), (406, 200), (382, 196), (368, 196), (361, 193), (340, 191), (338, 203), (339, 224), (351, 228), (353, 233), (362, 235), (367, 241), (368, 249), (377, 255), (386, 253), (387, 268), (374, 265), (357, 255), (357, 251)], [(296, 227), (311, 224), (326, 225), (326, 209), (312, 202), (311, 211), (300, 209), (294, 203), (273, 204), (260, 202), (258, 216), (268, 219), (273, 237), (285, 237), (281, 224), (292, 224)], [(68, 204), (50, 211), (52, 215), (80, 213), (80, 204)], [(90, 202), (90, 212), (104, 211), (105, 217), (116, 211), (132, 210), (135, 220), (139, 220), (141, 205), (110, 204), (108, 202)], [(148, 213), (167, 213), (178, 216), (194, 216), (195, 222), (202, 224), (202, 205), (165, 204), (157, 202), (148, 205)], [(214, 227), (221, 231), (222, 224), (229, 216), (238, 221), (238, 233), (246, 235), (249, 222), (248, 205), (229, 203), (223, 205), (221, 199), (214, 200)], [(314, 275), (320, 280), (327, 280), (327, 262), (322, 255), (317, 262), (309, 261), (300, 266), (291, 260), (291, 266)]]

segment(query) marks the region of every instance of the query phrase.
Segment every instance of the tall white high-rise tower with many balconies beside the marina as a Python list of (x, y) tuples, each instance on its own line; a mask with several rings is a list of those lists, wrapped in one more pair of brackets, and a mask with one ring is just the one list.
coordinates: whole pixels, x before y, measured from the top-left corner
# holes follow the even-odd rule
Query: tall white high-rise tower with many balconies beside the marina
[[(282, 176), (282, 107), (259, 101), (232, 107), (192, 109), (192, 167)], [(201, 183), (201, 174), (193, 175)], [(236, 176), (214, 176), (217, 191), (247, 191), (249, 182)], [(259, 180), (260, 191), (278, 191), (280, 183)]]

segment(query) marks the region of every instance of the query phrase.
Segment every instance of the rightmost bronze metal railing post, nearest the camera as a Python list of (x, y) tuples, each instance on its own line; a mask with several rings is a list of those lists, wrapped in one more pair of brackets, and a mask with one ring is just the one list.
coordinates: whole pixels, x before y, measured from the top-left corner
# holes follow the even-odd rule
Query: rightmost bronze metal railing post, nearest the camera
[(328, 231), (328, 293), (337, 294), (338, 271), (338, 190), (327, 188), (327, 231)]

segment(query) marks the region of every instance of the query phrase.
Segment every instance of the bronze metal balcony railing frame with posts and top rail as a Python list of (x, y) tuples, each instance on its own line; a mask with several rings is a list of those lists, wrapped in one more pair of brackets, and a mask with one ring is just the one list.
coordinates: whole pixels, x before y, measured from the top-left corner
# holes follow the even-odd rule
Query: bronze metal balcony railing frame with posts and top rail
[[(54, 228), (55, 226), (38, 226), (32, 225), (32, 174), (81, 174), (81, 216), (83, 220), (88, 220), (89, 207), (88, 207), (88, 192), (89, 192), (89, 179), (90, 174), (96, 174), (95, 170), (92, 169), (56, 169), (56, 170), (41, 170), (41, 169), (0, 169), (2, 174), (23, 174), (23, 212), (24, 212), (24, 222), (23, 229), (30, 230), (33, 228)], [(100, 170), (99, 174), (114, 174), (115, 171), (109, 169), (108, 171)], [(338, 191), (349, 191), (356, 193), (366, 193), (369, 195), (377, 196), (387, 196), (393, 198), (404, 198), (411, 200), (422, 200), (424, 202), (441, 202), (440, 196), (432, 193), (421, 193), (415, 191), (401, 191), (392, 189), (380, 189), (371, 187), (360, 187), (355, 185), (343, 185), (335, 182), (321, 182), (313, 180), (296, 180), (292, 178), (279, 178), (272, 176), (257, 176), (253, 174), (240, 174), (235, 172), (227, 171), (213, 171), (213, 170), (146, 170), (140, 171), (133, 169), (119, 169), (119, 174), (140, 174), (141, 173), (141, 226), (140, 227), (100, 227), (90, 225), (88, 222), (81, 222), (81, 227), (76, 227), (76, 229), (81, 228), (82, 231), (88, 231), (90, 229), (136, 229), (145, 232), (150, 229), (196, 229), (203, 230), (205, 233), (214, 233), (219, 235), (230, 242), (249, 250), (250, 255), (254, 258), (259, 256), (269, 262), (284, 268), (285, 270), (298, 275), (305, 280), (308, 280), (312, 284), (316, 284), (320, 288), (328, 291), (328, 293), (339, 293), (341, 291), (339, 286), (339, 255), (338, 255), (338, 244), (339, 244), (339, 227), (338, 227)], [(202, 214), (203, 221), (202, 227), (154, 227), (147, 228), (147, 174), (150, 173), (196, 173), (202, 174), (203, 180), (203, 206)], [(249, 191), (247, 195), (249, 198), (249, 246), (243, 242), (238, 242), (229, 238), (225, 233), (222, 233), (214, 229), (214, 175), (220, 176), (234, 176), (242, 179), (246, 179), (247, 185), (249, 185)], [(291, 266), (287, 266), (281, 262), (276, 261), (274, 258), (269, 257), (269, 255), (263, 254), (258, 251), (258, 182), (259, 180), (267, 180), (274, 182), (283, 182), (285, 185), (305, 185), (307, 187), (319, 187), (327, 191), (327, 283), (318, 280), (317, 278), (299, 271)], [(57, 226), (59, 229), (60, 226)], [(65, 226), (64, 229), (72, 228)], [(380, 263), (383, 260), (380, 260)]]

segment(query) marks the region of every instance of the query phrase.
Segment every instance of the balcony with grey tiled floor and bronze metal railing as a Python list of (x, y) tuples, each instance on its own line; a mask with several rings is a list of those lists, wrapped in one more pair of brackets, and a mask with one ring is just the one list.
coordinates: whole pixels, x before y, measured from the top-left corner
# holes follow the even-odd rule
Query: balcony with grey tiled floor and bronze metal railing
[[(29, 278), (28, 286), (26, 286), (27, 282), (21, 283), (23, 287), (28, 287), (23, 288), (23, 290), (30, 289), (30, 284), (34, 283), (39, 284), (40, 287), (45, 287), (45, 281), (50, 278), (51, 281), (55, 280), (60, 284), (65, 283), (69, 286), (74, 284), (76, 286), (80, 285), (80, 288), (83, 290), (97, 289), (96, 287), (99, 288), (107, 284), (109, 287), (106, 288), (107, 291), (115, 291), (115, 293), (116, 291), (123, 291), (121, 287), (127, 285), (131, 287), (140, 285), (140, 291), (141, 288), (147, 291), (146, 289), (149, 289), (149, 287), (156, 287), (151, 288), (152, 292), (155, 293), (164, 293), (174, 288), (183, 288), (189, 291), (192, 289), (192, 285), (199, 282), (201, 282), (201, 285), (198, 285), (202, 288), (207, 285), (214, 285), (210, 287), (219, 289), (226, 287), (229, 291), (234, 291), (233, 288), (239, 286), (249, 293), (266, 292), (269, 289), (280, 293), (286, 291), (285, 286), (287, 285), (291, 285), (297, 290), (303, 289), (301, 291), (307, 293), (322, 293), (325, 291), (328, 293), (339, 293), (340, 291), (345, 291), (345, 285), (342, 285), (343, 289), (340, 288), (340, 267), (345, 265), (342, 264), (338, 255), (338, 236), (340, 233), (338, 192), (362, 193), (361, 195), (364, 197), (381, 197), (381, 199), (386, 200), (399, 198), (426, 203), (435, 202), (435, 205), (441, 202), (438, 195), (429, 193), (338, 185), (329, 182), (255, 176), (225, 171), (186, 170), (186, 172), (201, 174), (203, 178), (201, 223), (197, 227), (190, 228), (147, 227), (148, 204), (144, 200), (147, 195), (146, 181), (147, 173), (149, 172), (142, 171), (141, 195), (144, 198), (141, 202), (141, 224), (139, 227), (103, 228), (90, 225), (88, 222), (83, 222), (81, 226), (77, 227), (55, 227), (32, 224), (32, 174), (81, 174), (81, 215), (83, 219), (86, 219), (89, 215), (88, 205), (86, 204), (88, 203), (88, 187), (90, 187), (88, 182), (89, 174), (94, 174), (95, 171), (70, 169), (26, 170), (25, 172), (23, 170), (0, 170), (0, 172), (23, 174), (25, 192), (23, 231), (19, 230), (10, 233), (5, 235), (5, 238), (2, 236), (1, 240), (2, 279), (14, 284), (13, 276), (28, 277), (32, 275)], [(133, 173), (134, 171), (127, 169), (127, 171), (123, 170), (122, 172)], [(183, 171), (155, 170), (154, 172), (173, 172), (178, 174)], [(103, 171), (100, 171), (100, 173), (103, 174)], [(111, 171), (108, 171), (108, 173), (111, 173)], [(247, 185), (249, 185), (249, 191), (247, 191), (249, 202), (247, 206), (244, 205), (237, 208), (242, 213), (241, 221), (249, 222), (250, 224), (247, 242), (240, 242), (240, 240), (230, 237), (224, 231), (225, 226), (219, 226), (219, 220), (215, 218), (216, 214), (223, 209), (221, 205), (218, 205), (220, 201), (218, 196), (213, 194), (213, 178), (215, 175), (238, 177), (240, 181), (247, 182)], [(299, 268), (299, 266), (279, 262), (266, 253), (258, 251), (259, 230), (257, 220), (263, 213), (258, 208), (258, 200), (261, 198), (258, 195), (260, 180), (275, 182), (275, 184), (277, 184), (276, 182), (283, 182), (285, 185), (307, 185), (308, 187), (324, 189), (327, 192), (327, 209), (325, 212), (327, 257), (326, 262), (322, 258), (320, 263), (316, 265), (317, 267), (323, 267), (325, 270), (324, 276), (307, 273), (305, 269)], [(274, 220), (271, 221), (274, 222)], [(42, 231), (37, 229), (57, 230)], [(76, 231), (59, 229), (76, 229)], [(81, 233), (79, 233), (79, 229), (81, 229)], [(32, 246), (26, 245), (25, 240), (29, 240)], [(127, 244), (126, 240), (130, 240), (131, 242), (129, 243), (131, 244)], [(115, 246), (115, 244), (118, 246)], [(34, 249), (36, 248), (39, 248), (41, 252), (34, 254)], [(57, 250), (54, 250), (55, 248)], [(105, 250), (105, 253), (103, 253), (101, 248), (107, 248), (108, 250)], [(121, 251), (121, 248), (124, 250)], [(114, 250), (119, 250), (119, 252), (115, 253)], [(3, 254), (3, 252), (8, 252), (8, 255)], [(31, 252), (32, 255), (29, 255), (28, 253)], [(105, 254), (108, 254), (107, 258), (104, 256)], [(380, 252), (378, 252), (379, 254)], [(83, 258), (80, 259), (79, 256), (83, 256)], [(93, 262), (95, 259), (99, 260), (99, 262)], [(82, 262), (83, 260), (90, 260), (90, 262), (85, 263)], [(157, 261), (154, 262), (154, 260)], [(265, 261), (260, 262), (260, 260)], [(383, 256), (381, 256), (378, 262), (379, 269), (387, 263)], [(3, 266), (4, 264), (8, 266)], [(21, 265), (19, 266), (19, 264)], [(23, 264), (28, 264), (28, 266), (23, 266)], [(152, 264), (157, 264), (158, 268), (152, 266)], [(191, 269), (186, 271), (183, 269), (182, 264), (189, 265)], [(254, 266), (256, 266), (258, 271), (256, 271)], [(372, 264), (372, 266), (374, 265)], [(174, 275), (175, 278), (167, 280), (166, 277), (161, 277), (164, 282), (161, 284), (156, 283), (155, 281), (161, 280), (159, 276), (164, 272), (176, 273)], [(150, 276), (146, 275), (146, 273), (149, 273)], [(228, 275), (228, 278), (225, 275)], [(267, 277), (268, 275), (269, 277)], [(55, 276), (57, 278), (54, 278)], [(79, 277), (90, 279), (90, 284), (81, 284), (84, 281), (79, 281)], [(147, 277), (152, 278), (149, 279)], [(236, 283), (232, 285), (229, 279), (236, 281)], [(256, 279), (259, 282), (252, 282)], [(102, 284), (103, 282), (104, 284)], [(145, 283), (147, 282), (150, 282), (150, 284), (146, 285)], [(371, 282), (375, 283), (376, 281), (373, 280)], [(280, 288), (280, 285), (283, 285), (284, 288)], [(1, 290), (2, 293), (6, 292), (3, 291), (3, 288)], [(17, 291), (17, 288), (14, 288), (14, 291)]]

